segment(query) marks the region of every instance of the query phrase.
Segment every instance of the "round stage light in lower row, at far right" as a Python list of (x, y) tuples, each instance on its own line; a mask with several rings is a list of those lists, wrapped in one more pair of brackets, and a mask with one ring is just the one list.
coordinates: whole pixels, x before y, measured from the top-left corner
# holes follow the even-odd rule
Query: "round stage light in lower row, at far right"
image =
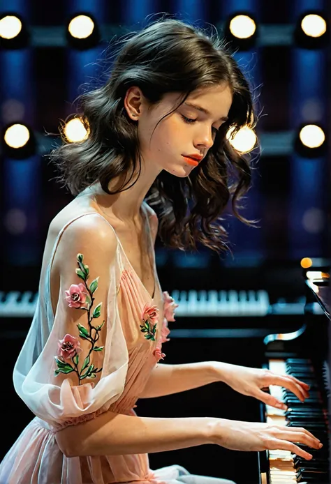
[(295, 150), (305, 158), (318, 158), (325, 153), (325, 131), (317, 124), (300, 126), (295, 138)]

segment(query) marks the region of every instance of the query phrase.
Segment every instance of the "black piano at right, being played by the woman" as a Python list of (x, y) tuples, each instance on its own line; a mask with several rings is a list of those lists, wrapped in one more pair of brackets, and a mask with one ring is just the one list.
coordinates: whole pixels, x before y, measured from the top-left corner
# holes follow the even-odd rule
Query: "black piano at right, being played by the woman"
[(293, 393), (272, 386), (270, 393), (285, 402), (288, 410), (278, 410), (261, 404), (263, 421), (304, 427), (321, 439), (323, 448), (321, 451), (307, 448), (313, 455), (310, 461), (290, 451), (260, 453), (260, 484), (331, 482), (329, 281), (330, 272), (307, 271), (307, 298), (302, 326), (297, 331), (271, 334), (264, 339), (265, 367), (307, 382), (311, 386), (310, 398), (302, 404)]

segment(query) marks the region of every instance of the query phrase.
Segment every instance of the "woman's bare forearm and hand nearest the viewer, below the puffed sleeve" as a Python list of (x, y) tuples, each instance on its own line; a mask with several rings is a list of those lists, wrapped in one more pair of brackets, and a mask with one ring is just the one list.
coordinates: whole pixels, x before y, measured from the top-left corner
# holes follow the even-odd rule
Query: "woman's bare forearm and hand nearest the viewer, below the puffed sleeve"
[(303, 428), (209, 417), (136, 417), (110, 411), (55, 435), (68, 457), (154, 453), (217, 444), (237, 451), (287, 450), (310, 460), (311, 454), (294, 442), (320, 448), (320, 441)]

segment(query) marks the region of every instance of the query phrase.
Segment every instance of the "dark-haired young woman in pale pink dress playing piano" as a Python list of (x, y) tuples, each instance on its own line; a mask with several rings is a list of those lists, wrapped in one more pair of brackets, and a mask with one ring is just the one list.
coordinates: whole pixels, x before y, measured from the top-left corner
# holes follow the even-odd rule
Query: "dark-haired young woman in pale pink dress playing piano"
[[(207, 483), (177, 465), (149, 469), (148, 453), (201, 444), (310, 459), (295, 443), (320, 443), (303, 428), (134, 410), (138, 398), (212, 381), (274, 407), (281, 402), (261, 388), (308, 395), (302, 381), (270, 371), (158, 363), (176, 304), (159, 284), (156, 234), (168, 246), (219, 252), (230, 197), (247, 222), (236, 206), (250, 161), (226, 133), (256, 118), (233, 56), (214, 36), (159, 20), (125, 40), (108, 82), (82, 96), (82, 116), (87, 139), (52, 153), (75, 198), (50, 224), (38, 305), (14, 368), (15, 390), (36, 417), (1, 463), (0, 482)], [(149, 190), (159, 217), (145, 202)]]

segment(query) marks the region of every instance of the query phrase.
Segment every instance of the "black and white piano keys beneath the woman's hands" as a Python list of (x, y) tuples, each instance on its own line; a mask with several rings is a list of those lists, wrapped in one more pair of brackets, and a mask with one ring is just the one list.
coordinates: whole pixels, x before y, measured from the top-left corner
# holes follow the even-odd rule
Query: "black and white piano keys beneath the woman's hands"
[[(270, 370), (282, 375), (293, 375), (311, 386), (310, 397), (304, 404), (290, 393), (286, 388), (270, 386), (270, 393), (281, 402), (285, 402), (288, 410), (275, 409), (266, 405), (267, 422), (276, 425), (303, 427), (321, 440), (323, 448), (316, 451), (307, 448), (313, 458), (305, 460), (290, 451), (268, 451), (270, 474), (269, 484), (290, 483), (316, 483), (328, 484), (328, 416), (327, 409), (323, 408), (321, 394), (314, 369), (310, 361), (301, 358), (288, 358), (287, 360), (270, 359)], [(297, 444), (302, 446), (302, 444)]]

